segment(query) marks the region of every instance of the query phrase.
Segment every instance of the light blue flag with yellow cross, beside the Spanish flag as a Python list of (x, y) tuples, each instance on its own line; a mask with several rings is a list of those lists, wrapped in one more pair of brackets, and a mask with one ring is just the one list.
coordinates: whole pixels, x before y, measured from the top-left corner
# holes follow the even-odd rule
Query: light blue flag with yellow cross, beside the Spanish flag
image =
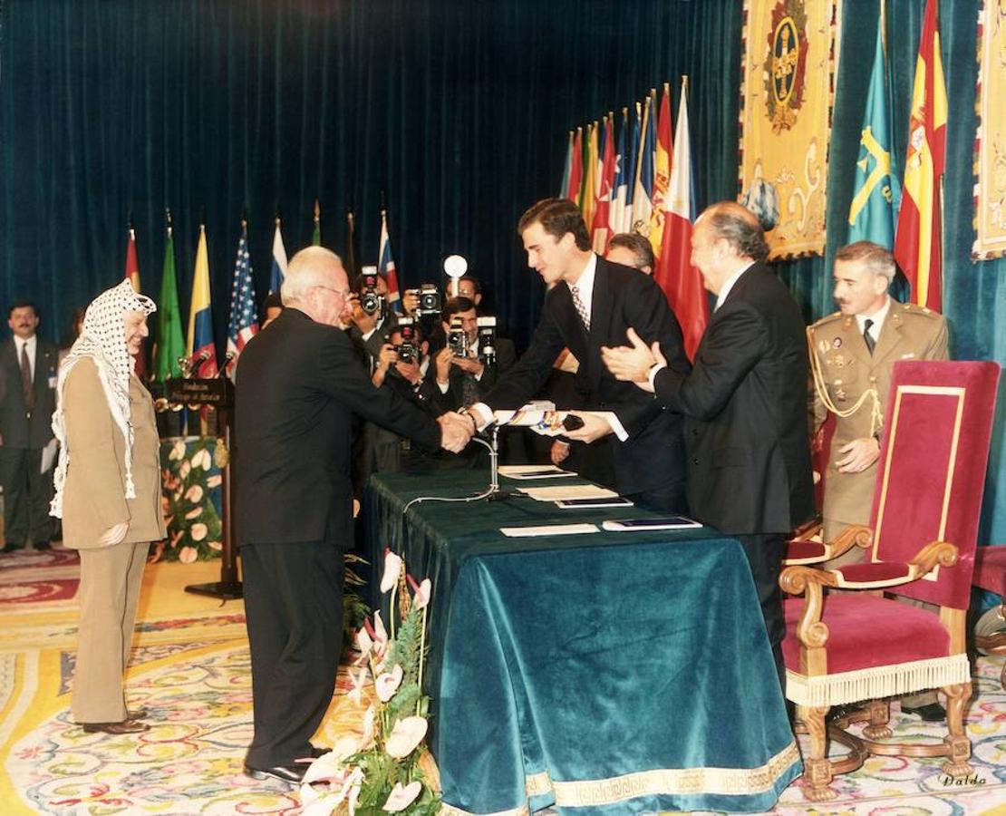
[(849, 242), (871, 240), (889, 250), (894, 246), (901, 185), (897, 181), (890, 153), (887, 71), (880, 25), (877, 26), (877, 46), (859, 137), (859, 157), (856, 159), (856, 181), (853, 185), (855, 194), (849, 206)]

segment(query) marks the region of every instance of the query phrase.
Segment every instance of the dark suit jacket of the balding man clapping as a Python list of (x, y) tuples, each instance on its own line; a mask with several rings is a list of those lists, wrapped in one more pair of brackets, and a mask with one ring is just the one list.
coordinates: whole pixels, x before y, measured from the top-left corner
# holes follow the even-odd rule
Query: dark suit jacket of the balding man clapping
[(657, 397), (686, 417), (688, 505), (731, 534), (789, 532), (814, 515), (800, 309), (762, 264), (741, 275), (702, 335), (688, 376)]

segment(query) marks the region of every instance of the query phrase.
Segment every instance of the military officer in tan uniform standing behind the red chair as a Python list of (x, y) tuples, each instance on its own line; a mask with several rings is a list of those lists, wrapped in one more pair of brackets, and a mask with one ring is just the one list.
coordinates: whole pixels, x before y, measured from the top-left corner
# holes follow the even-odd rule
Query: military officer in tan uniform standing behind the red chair
[[(947, 321), (936, 312), (901, 304), (887, 294), (894, 259), (860, 240), (835, 255), (839, 311), (809, 332), (814, 370), (814, 428), (835, 415), (835, 434), (824, 478), (824, 536), (833, 540), (849, 524), (868, 524), (880, 456), (880, 430), (890, 376), (897, 360), (946, 360)], [(862, 560), (853, 547), (825, 563), (834, 568)], [(942, 719), (936, 692), (905, 696), (901, 710)]]

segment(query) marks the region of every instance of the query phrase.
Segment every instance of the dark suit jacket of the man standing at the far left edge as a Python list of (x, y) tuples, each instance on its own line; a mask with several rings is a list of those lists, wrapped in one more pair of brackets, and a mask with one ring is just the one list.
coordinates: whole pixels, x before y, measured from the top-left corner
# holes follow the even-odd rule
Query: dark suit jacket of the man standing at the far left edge
[(36, 337), (32, 388), (35, 407), (29, 417), (21, 393), (21, 361), (13, 338), (0, 346), (0, 436), (8, 448), (44, 448), (52, 439), (52, 412), (56, 405), (58, 351)]

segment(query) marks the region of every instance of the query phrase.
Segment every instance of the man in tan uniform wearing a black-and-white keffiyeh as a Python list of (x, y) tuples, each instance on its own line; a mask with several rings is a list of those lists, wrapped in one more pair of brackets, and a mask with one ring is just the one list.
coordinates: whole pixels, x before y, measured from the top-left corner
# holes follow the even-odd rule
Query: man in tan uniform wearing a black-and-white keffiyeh
[(149, 725), (126, 707), (124, 674), (151, 541), (166, 534), (154, 403), (133, 371), (154, 302), (129, 280), (88, 307), (59, 367), (51, 513), (80, 553), (80, 623), (71, 711), (88, 732)]

